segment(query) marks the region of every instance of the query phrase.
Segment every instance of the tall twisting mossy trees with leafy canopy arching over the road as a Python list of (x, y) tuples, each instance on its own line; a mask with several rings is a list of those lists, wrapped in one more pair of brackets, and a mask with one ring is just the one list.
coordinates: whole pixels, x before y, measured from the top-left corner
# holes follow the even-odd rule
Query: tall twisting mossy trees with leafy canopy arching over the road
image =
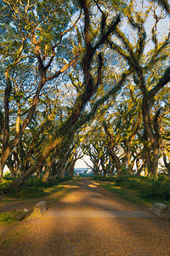
[[(166, 1), (0, 1), (0, 178), (169, 169)], [(162, 26), (165, 29), (162, 29)], [(79, 148), (82, 148), (81, 150)]]

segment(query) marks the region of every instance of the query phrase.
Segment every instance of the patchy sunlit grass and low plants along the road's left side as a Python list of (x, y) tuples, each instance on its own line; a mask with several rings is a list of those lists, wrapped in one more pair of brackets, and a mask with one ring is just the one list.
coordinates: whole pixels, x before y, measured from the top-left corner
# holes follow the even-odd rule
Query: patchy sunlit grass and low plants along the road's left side
[[(32, 185), (35, 186), (35, 183), (37, 183), (37, 181), (35, 181), (34, 179), (35, 178), (32, 179)], [(69, 182), (65, 183), (65, 180), (69, 180)], [(29, 181), (28, 183), (30, 182), (31, 181)], [(24, 186), (21, 192), (20, 190), (14, 191), (13, 194), (10, 195), (11, 197), (8, 197), (8, 195), (3, 195), (2, 203), (10, 203), (8, 211), (10, 211), (10, 206), (11, 209), (14, 208), (13, 205), (15, 204), (15, 202), (17, 202), (18, 206), (20, 205), (20, 203), (23, 205), (23, 202), (25, 202), (27, 207), (29, 206), (33, 209), (33, 206), (38, 202), (37, 199), (41, 197), (41, 200), (47, 201), (47, 205), (48, 207), (50, 207), (50, 205), (53, 205), (62, 197), (68, 195), (72, 189), (74, 189), (74, 187), (72, 187), (72, 183), (74, 185), (74, 180), (72, 180), (71, 178), (59, 179), (59, 181), (56, 183), (38, 183), (39, 187), (36, 187), (37, 191), (35, 191), (35, 193), (31, 194), (32, 191), (29, 189), (30, 187)], [(43, 193), (39, 193), (40, 189), (42, 189)], [(22, 191), (24, 191), (24, 193)], [(26, 195), (26, 193), (29, 194)], [(0, 213), (0, 225), (6, 226), (8, 224), (19, 224), (19, 222), (16, 221), (15, 217), (18, 216), (20, 213), (21, 212), (16, 210)]]

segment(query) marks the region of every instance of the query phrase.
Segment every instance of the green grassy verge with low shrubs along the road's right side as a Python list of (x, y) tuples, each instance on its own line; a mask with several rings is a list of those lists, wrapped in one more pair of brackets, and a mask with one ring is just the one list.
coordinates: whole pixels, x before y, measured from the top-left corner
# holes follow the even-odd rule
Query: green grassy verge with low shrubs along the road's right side
[(138, 205), (150, 207), (155, 202), (170, 205), (170, 179), (158, 177), (93, 177), (111, 193)]

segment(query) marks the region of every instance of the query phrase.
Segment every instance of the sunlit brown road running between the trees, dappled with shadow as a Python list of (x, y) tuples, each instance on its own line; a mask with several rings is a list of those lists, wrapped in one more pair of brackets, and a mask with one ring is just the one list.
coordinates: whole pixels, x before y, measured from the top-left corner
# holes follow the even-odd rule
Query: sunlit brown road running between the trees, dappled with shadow
[(169, 220), (117, 199), (86, 178), (72, 186), (42, 218), (8, 230), (13, 241), (0, 255), (170, 255)]

